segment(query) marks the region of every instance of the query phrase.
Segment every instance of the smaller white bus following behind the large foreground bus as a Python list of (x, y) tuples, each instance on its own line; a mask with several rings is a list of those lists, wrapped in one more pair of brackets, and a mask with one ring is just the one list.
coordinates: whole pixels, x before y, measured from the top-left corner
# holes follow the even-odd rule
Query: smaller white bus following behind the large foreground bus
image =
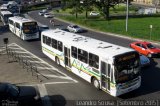
[(23, 40), (39, 38), (38, 24), (36, 21), (19, 16), (9, 18), (9, 29)]

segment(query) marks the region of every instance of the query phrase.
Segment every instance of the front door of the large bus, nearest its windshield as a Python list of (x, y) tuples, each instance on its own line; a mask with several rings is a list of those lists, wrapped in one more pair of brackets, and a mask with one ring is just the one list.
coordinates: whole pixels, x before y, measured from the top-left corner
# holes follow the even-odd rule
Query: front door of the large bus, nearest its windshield
[(101, 62), (101, 86), (105, 91), (110, 92), (110, 69), (111, 65)]

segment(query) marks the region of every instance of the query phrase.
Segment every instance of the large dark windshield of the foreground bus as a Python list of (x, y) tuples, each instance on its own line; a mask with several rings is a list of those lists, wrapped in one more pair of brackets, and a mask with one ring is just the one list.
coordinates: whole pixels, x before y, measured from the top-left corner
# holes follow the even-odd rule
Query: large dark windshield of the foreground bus
[(139, 54), (127, 53), (115, 57), (116, 83), (124, 83), (139, 76), (140, 72)]

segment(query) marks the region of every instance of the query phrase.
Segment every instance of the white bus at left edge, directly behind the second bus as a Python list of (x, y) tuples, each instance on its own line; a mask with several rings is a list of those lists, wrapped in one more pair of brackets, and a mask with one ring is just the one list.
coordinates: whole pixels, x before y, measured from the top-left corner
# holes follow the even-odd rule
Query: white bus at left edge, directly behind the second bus
[(0, 16), (3, 24), (8, 25), (8, 18), (13, 17), (13, 14), (10, 11), (1, 11)]

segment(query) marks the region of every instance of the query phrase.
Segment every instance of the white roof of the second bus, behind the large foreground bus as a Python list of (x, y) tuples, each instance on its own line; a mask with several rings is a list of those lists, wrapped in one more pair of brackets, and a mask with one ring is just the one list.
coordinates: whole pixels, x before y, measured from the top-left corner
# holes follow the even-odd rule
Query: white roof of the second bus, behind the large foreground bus
[(30, 20), (30, 19), (27, 19), (27, 18), (24, 18), (24, 17), (19, 17), (19, 16), (10, 17), (9, 20), (13, 20), (17, 23), (33, 22), (33, 20)]

